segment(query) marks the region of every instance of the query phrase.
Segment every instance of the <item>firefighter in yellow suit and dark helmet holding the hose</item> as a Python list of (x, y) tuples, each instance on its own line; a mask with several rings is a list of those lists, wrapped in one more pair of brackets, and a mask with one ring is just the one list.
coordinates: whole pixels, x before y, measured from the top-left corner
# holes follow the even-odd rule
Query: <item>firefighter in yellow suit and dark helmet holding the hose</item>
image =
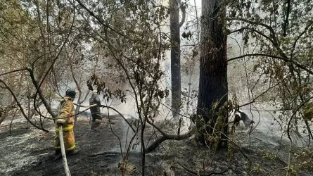
[(58, 136), (59, 127), (62, 125), (63, 129), (63, 139), (65, 151), (68, 155), (74, 155), (79, 152), (79, 149), (76, 149), (75, 146), (75, 137), (74, 137), (74, 122), (75, 122), (75, 108), (74, 108), (74, 99), (76, 92), (74, 89), (68, 89), (66, 91), (63, 101), (60, 102), (60, 112), (58, 119), (56, 119), (56, 137), (54, 138), (54, 148), (56, 149), (55, 159), (61, 158), (60, 151), (60, 139)]

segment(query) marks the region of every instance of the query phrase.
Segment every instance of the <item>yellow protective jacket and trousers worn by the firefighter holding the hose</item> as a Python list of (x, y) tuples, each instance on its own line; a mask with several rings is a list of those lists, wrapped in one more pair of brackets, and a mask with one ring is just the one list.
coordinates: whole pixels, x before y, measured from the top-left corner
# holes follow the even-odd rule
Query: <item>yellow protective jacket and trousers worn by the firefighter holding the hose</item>
[[(60, 104), (60, 115), (59, 118), (64, 118), (65, 123), (62, 125), (63, 140), (65, 150), (70, 151), (75, 149), (75, 136), (74, 136), (74, 122), (75, 122), (75, 108), (74, 103), (69, 97), (65, 96), (64, 101)], [(59, 139), (59, 127), (56, 125), (56, 137), (54, 139), (55, 149), (60, 149), (60, 139)]]

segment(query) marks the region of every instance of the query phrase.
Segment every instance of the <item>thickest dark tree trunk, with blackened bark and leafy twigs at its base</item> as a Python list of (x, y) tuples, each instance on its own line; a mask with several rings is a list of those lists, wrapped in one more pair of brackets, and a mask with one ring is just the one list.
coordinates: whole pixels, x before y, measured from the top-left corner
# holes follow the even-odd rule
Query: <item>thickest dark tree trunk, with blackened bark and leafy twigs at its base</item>
[[(200, 54), (200, 80), (198, 95), (198, 115), (204, 118), (208, 126), (206, 132), (212, 134), (217, 121), (217, 111), (227, 101), (227, 58), (226, 35), (224, 27), (224, 6), (221, 0), (202, 1), (201, 23), (201, 54)], [(213, 106), (216, 105), (216, 106)], [(228, 117), (223, 118), (224, 124)], [(197, 122), (197, 127), (200, 121)], [(227, 126), (223, 126), (227, 135)], [(206, 144), (205, 130), (200, 131), (200, 142)], [(222, 135), (222, 138), (225, 138)]]

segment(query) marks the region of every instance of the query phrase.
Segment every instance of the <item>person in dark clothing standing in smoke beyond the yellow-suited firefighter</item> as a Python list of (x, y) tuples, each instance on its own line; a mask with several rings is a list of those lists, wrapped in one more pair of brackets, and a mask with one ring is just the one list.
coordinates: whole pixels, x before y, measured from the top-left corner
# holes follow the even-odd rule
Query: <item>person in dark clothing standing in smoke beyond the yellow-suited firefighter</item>
[(96, 90), (93, 91), (93, 94), (91, 98), (89, 99), (89, 106), (94, 106), (90, 108), (90, 112), (92, 116), (91, 130), (98, 131), (98, 126), (101, 125), (102, 117), (100, 113), (101, 101), (98, 97), (98, 92)]

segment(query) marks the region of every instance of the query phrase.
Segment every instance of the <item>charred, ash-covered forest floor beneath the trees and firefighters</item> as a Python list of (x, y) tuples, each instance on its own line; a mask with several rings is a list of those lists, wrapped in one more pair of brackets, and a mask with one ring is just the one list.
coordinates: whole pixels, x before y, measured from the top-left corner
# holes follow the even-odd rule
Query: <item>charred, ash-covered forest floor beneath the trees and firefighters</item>
[[(53, 123), (45, 122), (51, 132), (42, 132), (27, 125), (25, 121), (14, 121), (11, 133), (7, 118), (0, 125), (0, 175), (65, 175), (62, 160), (54, 161)], [(80, 117), (75, 125), (75, 138), (81, 152), (68, 156), (71, 175), (121, 175), (118, 167), (122, 161), (122, 150), (127, 134), (127, 123), (120, 119), (104, 119), (100, 132), (92, 132), (89, 118)], [(27, 127), (28, 126), (28, 127)], [(114, 132), (114, 134), (113, 134)], [(148, 137), (153, 128), (147, 127)], [(155, 135), (154, 135), (155, 136)], [(117, 138), (118, 137), (118, 138)], [(146, 154), (146, 175), (210, 175), (224, 172), (224, 175), (286, 175), (288, 163), (288, 142), (274, 139), (255, 130), (251, 136), (245, 130), (237, 130), (234, 142), (234, 160), (229, 161), (227, 151), (213, 151), (198, 145), (195, 139), (163, 142), (158, 149)], [(153, 139), (151, 139), (153, 141)], [(139, 144), (139, 137), (134, 142)], [(130, 152), (126, 175), (141, 175), (140, 144)], [(204, 172), (205, 170), (205, 172)], [(193, 173), (192, 173), (193, 172)], [(214, 175), (214, 174), (211, 174)], [(297, 175), (313, 175), (300, 171)]]

